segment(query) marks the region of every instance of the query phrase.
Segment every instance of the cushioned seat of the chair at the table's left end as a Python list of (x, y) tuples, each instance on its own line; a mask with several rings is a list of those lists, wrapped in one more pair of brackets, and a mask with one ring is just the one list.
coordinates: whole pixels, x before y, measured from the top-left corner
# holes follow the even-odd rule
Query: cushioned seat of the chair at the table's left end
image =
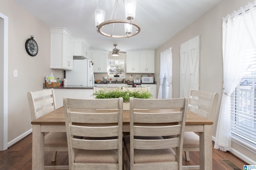
[(49, 132), (44, 137), (44, 146), (66, 146), (66, 147), (68, 147), (66, 132)]

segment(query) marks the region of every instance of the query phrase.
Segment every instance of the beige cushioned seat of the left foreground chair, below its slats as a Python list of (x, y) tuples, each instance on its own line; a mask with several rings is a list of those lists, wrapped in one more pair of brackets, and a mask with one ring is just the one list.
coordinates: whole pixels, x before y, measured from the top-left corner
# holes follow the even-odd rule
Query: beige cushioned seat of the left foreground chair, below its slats
[(75, 149), (76, 163), (118, 163), (118, 150), (82, 150)]

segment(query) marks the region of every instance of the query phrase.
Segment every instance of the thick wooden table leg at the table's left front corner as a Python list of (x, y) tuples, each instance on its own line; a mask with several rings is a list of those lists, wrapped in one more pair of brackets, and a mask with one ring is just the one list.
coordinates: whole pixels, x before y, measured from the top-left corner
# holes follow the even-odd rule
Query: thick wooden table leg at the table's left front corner
[(32, 125), (32, 170), (44, 170), (44, 132)]

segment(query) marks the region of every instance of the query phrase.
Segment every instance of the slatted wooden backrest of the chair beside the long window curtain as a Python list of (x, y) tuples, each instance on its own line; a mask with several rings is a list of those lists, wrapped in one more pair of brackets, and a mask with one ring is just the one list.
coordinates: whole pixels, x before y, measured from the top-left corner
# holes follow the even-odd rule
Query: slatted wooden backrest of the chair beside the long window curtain
[(219, 94), (216, 92), (190, 90), (188, 96), (188, 110), (213, 121), (218, 97)]

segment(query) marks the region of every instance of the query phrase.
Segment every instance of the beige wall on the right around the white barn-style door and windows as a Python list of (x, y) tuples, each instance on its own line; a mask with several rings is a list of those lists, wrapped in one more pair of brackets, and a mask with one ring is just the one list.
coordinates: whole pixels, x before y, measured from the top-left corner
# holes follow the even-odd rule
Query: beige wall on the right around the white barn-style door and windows
[[(232, 14), (234, 10), (238, 10), (240, 6), (245, 6), (253, 0), (224, 0), (210, 11), (206, 12), (198, 20), (194, 21), (180, 33), (176, 34), (166, 43), (158, 47), (155, 51), (155, 78), (159, 82), (160, 74), (160, 53), (168, 47), (172, 49), (172, 77), (173, 98), (180, 96), (180, 44), (189, 39), (200, 35), (200, 90), (218, 92), (218, 109), (222, 98), (222, 17)], [(159, 88), (159, 83), (157, 89)], [(157, 92), (158, 93), (158, 92)], [(214, 119), (213, 136), (216, 135), (216, 126), (218, 122), (218, 113)], [(256, 155), (250, 151), (244, 150), (239, 145), (232, 143), (234, 149), (239, 150), (249, 158), (256, 158)]]

